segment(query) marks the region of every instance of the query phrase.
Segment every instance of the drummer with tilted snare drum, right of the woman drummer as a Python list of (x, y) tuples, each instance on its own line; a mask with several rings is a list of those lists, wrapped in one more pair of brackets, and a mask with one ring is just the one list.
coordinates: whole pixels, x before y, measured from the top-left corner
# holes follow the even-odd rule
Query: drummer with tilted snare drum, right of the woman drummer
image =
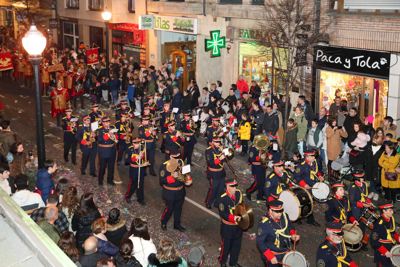
[[(354, 176), (354, 184), (349, 188), (349, 200), (350, 200), (350, 209), (352, 211), (352, 214), (354, 216), (354, 219), (358, 220), (360, 219), (361, 213), (364, 210), (364, 208), (370, 208), (372, 209), (372, 203), (370, 199), (367, 197), (368, 196), (368, 189), (367, 185), (364, 182), (364, 170), (355, 170), (353, 172)], [(366, 225), (364, 222), (359, 221), (360, 227), (362, 234), (365, 234), (365, 229)], [(366, 245), (364, 245), (364, 242), (362, 243), (361, 249), (367, 251), (368, 248)]]

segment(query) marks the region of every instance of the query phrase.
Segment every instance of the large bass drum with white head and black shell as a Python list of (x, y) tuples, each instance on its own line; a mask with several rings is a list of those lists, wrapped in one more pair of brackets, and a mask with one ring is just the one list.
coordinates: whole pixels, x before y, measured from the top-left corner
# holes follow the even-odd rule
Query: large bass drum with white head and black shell
[(304, 187), (294, 187), (280, 192), (279, 199), (283, 202), (283, 209), (290, 221), (307, 217), (314, 210), (314, 202), (310, 193)]

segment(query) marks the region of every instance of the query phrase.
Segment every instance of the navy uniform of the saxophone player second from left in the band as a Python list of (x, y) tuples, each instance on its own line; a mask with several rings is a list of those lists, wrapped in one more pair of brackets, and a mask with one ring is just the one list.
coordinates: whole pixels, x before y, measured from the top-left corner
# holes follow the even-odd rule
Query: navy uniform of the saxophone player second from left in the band
[(90, 175), (94, 175), (94, 173), (96, 172), (97, 141), (92, 143), (92, 148), (89, 148), (91, 138), (90, 127), (90, 124), (89, 126), (80, 124), (76, 129), (76, 140), (79, 142), (80, 150), (82, 151), (82, 164), (80, 166), (81, 172), (85, 172), (89, 162)]

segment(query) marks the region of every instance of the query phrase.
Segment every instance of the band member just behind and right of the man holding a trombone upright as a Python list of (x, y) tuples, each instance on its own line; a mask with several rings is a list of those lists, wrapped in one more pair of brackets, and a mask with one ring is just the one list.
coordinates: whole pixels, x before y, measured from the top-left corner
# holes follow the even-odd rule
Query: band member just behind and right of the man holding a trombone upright
[(148, 162), (150, 163), (150, 175), (157, 176), (154, 172), (154, 157), (156, 155), (156, 140), (155, 140), (155, 132), (153, 127), (156, 122), (149, 123), (150, 116), (144, 115), (142, 116), (142, 124), (138, 127), (139, 136), (142, 140), (146, 142), (146, 157)]

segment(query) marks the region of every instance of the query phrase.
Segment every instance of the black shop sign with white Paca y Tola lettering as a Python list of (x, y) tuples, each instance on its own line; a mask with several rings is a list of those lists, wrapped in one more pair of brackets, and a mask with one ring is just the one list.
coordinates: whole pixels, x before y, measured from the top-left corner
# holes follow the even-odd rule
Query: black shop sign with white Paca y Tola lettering
[(316, 46), (314, 67), (388, 79), (390, 53), (337, 46)]

